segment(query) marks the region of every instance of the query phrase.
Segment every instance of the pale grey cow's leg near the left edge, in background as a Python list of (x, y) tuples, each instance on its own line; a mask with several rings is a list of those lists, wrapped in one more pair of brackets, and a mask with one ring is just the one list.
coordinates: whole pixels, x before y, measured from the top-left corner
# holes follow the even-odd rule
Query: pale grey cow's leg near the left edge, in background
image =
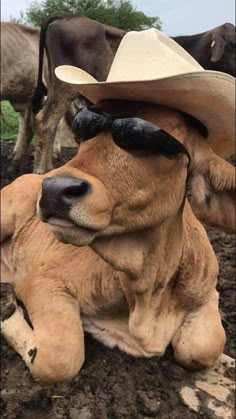
[(31, 106), (28, 106), (24, 111), (19, 113), (19, 128), (15, 147), (11, 153), (13, 167), (17, 167), (21, 158), (26, 153), (26, 150), (33, 138), (33, 113)]

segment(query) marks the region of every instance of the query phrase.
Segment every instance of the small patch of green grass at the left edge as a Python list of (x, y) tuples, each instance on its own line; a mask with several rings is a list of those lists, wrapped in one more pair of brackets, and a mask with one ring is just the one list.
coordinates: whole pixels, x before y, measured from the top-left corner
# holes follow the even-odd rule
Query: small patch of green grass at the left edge
[(18, 131), (18, 114), (6, 100), (1, 102), (1, 140), (15, 141)]

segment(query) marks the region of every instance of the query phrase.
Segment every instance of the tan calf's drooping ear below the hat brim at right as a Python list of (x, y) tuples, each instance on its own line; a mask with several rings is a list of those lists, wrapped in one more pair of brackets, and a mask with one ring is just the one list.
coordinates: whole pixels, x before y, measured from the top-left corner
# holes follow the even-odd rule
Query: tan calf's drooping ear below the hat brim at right
[(212, 150), (202, 155), (189, 179), (190, 204), (197, 218), (235, 232), (235, 167)]

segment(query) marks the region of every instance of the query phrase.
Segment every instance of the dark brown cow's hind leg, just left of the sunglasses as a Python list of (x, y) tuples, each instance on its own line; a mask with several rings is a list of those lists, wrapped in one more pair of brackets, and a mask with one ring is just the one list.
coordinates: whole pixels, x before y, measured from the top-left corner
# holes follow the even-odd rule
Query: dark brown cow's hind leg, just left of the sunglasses
[(57, 125), (74, 98), (74, 93), (63, 92), (61, 87), (55, 92), (54, 95), (49, 92), (44, 107), (35, 118), (34, 173), (45, 173), (53, 168), (53, 142)]

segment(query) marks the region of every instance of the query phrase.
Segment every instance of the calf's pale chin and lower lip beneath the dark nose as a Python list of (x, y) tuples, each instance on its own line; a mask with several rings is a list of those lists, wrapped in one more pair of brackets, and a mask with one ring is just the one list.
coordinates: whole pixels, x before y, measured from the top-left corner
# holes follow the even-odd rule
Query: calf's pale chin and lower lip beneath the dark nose
[(97, 235), (95, 230), (80, 227), (71, 221), (59, 218), (50, 217), (47, 224), (59, 241), (74, 246), (87, 246), (92, 243)]

